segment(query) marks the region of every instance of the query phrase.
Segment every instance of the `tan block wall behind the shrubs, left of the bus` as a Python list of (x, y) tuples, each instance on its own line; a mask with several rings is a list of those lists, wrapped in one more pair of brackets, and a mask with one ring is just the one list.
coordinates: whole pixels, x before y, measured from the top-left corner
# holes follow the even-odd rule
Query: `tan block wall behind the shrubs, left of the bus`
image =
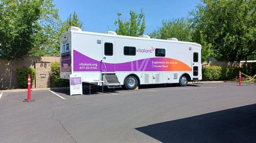
[[(50, 63), (59, 62), (59, 57), (31, 57), (26, 56), (23, 60), (15, 60), (13, 62), (13, 74), (12, 74), (12, 88), (19, 88), (16, 69), (20, 67), (34, 67), (36, 71), (35, 81), (32, 84), (32, 88), (44, 88), (50, 87)], [(41, 74), (45, 74), (45, 78), (41, 78)], [(6, 89), (9, 86), (10, 78), (10, 62), (6, 60), (0, 60), (0, 89)]]

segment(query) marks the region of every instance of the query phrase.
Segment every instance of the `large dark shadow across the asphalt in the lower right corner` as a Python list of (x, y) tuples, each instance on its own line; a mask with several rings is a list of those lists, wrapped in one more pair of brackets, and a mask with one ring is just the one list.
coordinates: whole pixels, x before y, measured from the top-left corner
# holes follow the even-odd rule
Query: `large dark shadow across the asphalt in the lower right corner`
[(163, 143), (256, 143), (256, 104), (136, 129)]

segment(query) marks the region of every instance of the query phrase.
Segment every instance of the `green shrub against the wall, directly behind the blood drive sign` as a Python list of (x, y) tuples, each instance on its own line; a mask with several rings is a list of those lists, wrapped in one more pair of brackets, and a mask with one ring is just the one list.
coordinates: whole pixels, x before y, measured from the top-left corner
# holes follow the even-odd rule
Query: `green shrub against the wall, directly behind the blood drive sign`
[(55, 87), (67, 87), (69, 86), (69, 81), (67, 79), (61, 79), (60, 77), (60, 63), (51, 63), (51, 80)]

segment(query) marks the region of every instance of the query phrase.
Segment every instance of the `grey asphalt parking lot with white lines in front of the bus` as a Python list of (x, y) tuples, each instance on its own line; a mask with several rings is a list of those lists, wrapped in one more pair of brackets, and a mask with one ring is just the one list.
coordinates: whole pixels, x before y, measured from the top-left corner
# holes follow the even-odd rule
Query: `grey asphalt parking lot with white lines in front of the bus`
[(256, 84), (237, 85), (3, 93), (0, 143), (256, 143)]

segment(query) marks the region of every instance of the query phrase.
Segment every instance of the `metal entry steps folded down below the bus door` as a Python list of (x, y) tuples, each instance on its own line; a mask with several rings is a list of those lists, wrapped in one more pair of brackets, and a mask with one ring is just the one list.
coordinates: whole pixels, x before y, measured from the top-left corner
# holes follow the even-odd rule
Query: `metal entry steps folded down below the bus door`
[(103, 75), (103, 80), (108, 88), (120, 88), (121, 84), (116, 75)]

